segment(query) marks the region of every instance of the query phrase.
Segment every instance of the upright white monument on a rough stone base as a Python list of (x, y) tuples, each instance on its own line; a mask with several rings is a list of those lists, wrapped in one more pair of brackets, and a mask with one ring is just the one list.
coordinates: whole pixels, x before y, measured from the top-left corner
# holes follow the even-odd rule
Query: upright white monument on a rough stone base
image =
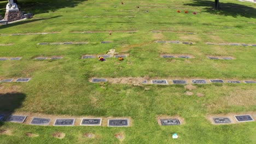
[(24, 15), (20, 12), (18, 5), (15, 2), (16, 0), (8, 0), (8, 4), (6, 5), (4, 20), (8, 22), (17, 21), (24, 18)]

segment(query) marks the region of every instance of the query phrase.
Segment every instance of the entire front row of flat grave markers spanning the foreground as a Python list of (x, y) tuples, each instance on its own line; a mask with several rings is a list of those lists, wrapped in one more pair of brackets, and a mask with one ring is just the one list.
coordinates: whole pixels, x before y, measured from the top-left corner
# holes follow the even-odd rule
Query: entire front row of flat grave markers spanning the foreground
[[(0, 114), (0, 122), (4, 120), (5, 115)], [(251, 115), (235, 115), (237, 122), (251, 122), (254, 119)], [(5, 121), (24, 123), (27, 116), (20, 115), (10, 115)], [(229, 117), (213, 117), (215, 124), (229, 124), (231, 119)], [(33, 117), (30, 124), (32, 125), (49, 125), (50, 118), (39, 118)], [(179, 119), (160, 119), (161, 125), (180, 125)], [(54, 126), (73, 126), (75, 123), (75, 118), (56, 118), (54, 121)], [(102, 118), (82, 118), (80, 125), (84, 126), (101, 126)], [(108, 127), (129, 127), (129, 119), (108, 119)]]

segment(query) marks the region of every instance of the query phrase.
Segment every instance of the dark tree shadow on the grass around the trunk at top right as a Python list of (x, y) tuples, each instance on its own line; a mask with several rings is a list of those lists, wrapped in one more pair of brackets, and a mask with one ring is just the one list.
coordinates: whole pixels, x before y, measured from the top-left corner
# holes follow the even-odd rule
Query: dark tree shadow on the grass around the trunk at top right
[(203, 8), (207, 13), (224, 15), (224, 16), (243, 16), (248, 18), (256, 18), (256, 9), (248, 7), (246, 5), (236, 3), (219, 3), (220, 10), (214, 9), (214, 1), (201, 1), (193, 0), (193, 3), (187, 3), (184, 5), (190, 5), (195, 7), (207, 7)]

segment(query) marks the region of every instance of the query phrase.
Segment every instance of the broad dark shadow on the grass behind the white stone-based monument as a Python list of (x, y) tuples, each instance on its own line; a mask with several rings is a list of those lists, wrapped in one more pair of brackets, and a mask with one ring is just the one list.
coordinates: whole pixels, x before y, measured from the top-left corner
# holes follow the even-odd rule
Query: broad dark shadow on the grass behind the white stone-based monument
[[(18, 0), (20, 11), (26, 13), (41, 14), (56, 11), (61, 8), (74, 8), (78, 4), (88, 0)], [(4, 15), (8, 1), (0, 0), (0, 15)]]

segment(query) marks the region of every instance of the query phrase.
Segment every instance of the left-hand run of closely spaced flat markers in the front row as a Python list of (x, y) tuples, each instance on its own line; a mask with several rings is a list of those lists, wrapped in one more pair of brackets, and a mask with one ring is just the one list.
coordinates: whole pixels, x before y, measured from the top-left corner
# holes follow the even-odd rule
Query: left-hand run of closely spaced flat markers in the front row
[[(4, 114), (0, 114), (0, 121), (4, 121)], [(27, 116), (20, 115), (10, 115), (5, 121), (24, 123)], [(33, 117), (30, 124), (32, 125), (49, 125), (50, 118), (39, 118)], [(75, 118), (56, 118), (54, 121), (54, 126), (73, 126), (75, 123)], [(80, 125), (85, 126), (101, 126), (102, 118), (82, 118)], [(129, 127), (129, 119), (108, 119), (108, 127)]]

